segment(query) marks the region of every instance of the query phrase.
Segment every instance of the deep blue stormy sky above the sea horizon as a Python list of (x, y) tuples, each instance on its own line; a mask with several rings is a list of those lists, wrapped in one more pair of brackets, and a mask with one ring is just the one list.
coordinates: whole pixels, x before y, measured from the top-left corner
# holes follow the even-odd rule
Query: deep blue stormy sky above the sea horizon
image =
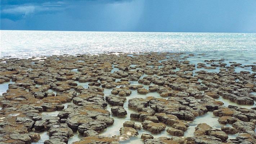
[(256, 0), (0, 0), (1, 30), (256, 33)]

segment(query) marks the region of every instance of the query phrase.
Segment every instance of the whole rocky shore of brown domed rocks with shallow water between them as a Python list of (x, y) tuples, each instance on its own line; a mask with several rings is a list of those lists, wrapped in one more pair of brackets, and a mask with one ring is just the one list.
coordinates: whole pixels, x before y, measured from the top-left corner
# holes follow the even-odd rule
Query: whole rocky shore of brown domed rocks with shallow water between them
[[(85, 137), (73, 144), (129, 139), (145, 144), (254, 143), (256, 64), (203, 60), (206, 57), (198, 62), (202, 56), (118, 52), (4, 59), (0, 86), (10, 80), (15, 84), (0, 96), (0, 125), (5, 131), (0, 141), (36, 144), (37, 132), (48, 131), (44, 143), (68, 143), (78, 131)], [(232, 105), (223, 106), (220, 97)], [(190, 129), (207, 112), (218, 117), (220, 126), (199, 123), (196, 131)], [(116, 126), (119, 134), (114, 133), (114, 121), (121, 121)], [(111, 131), (111, 137), (104, 136)], [(186, 137), (187, 131), (194, 136)], [(234, 131), (236, 138), (229, 139)]]

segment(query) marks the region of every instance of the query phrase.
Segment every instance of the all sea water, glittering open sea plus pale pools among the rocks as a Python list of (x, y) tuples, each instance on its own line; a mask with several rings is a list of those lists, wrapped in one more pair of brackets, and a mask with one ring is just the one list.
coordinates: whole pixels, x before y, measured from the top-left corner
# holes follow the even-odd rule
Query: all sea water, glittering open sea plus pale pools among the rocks
[[(188, 57), (190, 64), (205, 63), (205, 60), (224, 59), (224, 63), (230, 66), (229, 62), (242, 63), (244, 65), (255, 65), (256, 62), (256, 33), (157, 33), (157, 32), (75, 32), (75, 31), (3, 31), (1, 30), (1, 49), (0, 62), (5, 62), (3, 58), (31, 58), (51, 55), (78, 55), (78, 54), (101, 54), (101, 53), (139, 53), (139, 52), (170, 52), (170, 53), (186, 53), (181, 57), (194, 54), (194, 57)], [(132, 56), (132, 55), (131, 55)], [(208, 65), (207, 65), (208, 66)], [(210, 66), (210, 65), (209, 65)], [(117, 71), (114, 68), (113, 71)], [(196, 69), (199, 71), (201, 69)], [(203, 69), (206, 70), (206, 69)], [(77, 69), (72, 71), (77, 72)], [(112, 72), (113, 72), (112, 71)], [(177, 71), (174, 70), (174, 71)], [(193, 71), (193, 72), (195, 72)], [(209, 72), (219, 72), (219, 69), (207, 69)], [(235, 72), (251, 71), (250, 67), (235, 68)], [(196, 75), (196, 73), (194, 73)], [(145, 76), (145, 75), (143, 75)], [(142, 76), (142, 77), (143, 77)], [(131, 84), (138, 84), (138, 81), (131, 81)], [(87, 83), (78, 85), (87, 88)], [(144, 86), (148, 89), (148, 86)], [(0, 92), (4, 93), (8, 89), (8, 83), (0, 85)], [(112, 89), (105, 89), (104, 94), (111, 94)], [(136, 90), (132, 90), (132, 95), (127, 97), (125, 109), (127, 116), (118, 118), (112, 116), (115, 122), (112, 126), (100, 133), (102, 136), (113, 136), (119, 134), (122, 123), (130, 120), (130, 113), (134, 112), (128, 108), (128, 100), (134, 97), (155, 96), (157, 93), (149, 93), (147, 95), (139, 95)], [(1, 94), (0, 94), (1, 95)], [(230, 104), (237, 105), (219, 98), (224, 102), (225, 106)], [(250, 108), (254, 105), (239, 105), (241, 107)], [(67, 104), (65, 105), (65, 108)], [(107, 110), (111, 110), (108, 105)], [(44, 115), (54, 115), (57, 112), (42, 113)], [(193, 136), (194, 127), (198, 123), (206, 122), (214, 128), (220, 129), (222, 125), (217, 122), (219, 117), (213, 116), (212, 112), (208, 112), (203, 116), (196, 117), (185, 136)], [(139, 121), (134, 121), (140, 124)], [(167, 128), (169, 128), (167, 126)], [(139, 136), (131, 138), (120, 143), (142, 143), (141, 134), (151, 134), (147, 130), (139, 130)], [(35, 144), (42, 143), (49, 139), (47, 132), (42, 132), (41, 140)], [(155, 138), (160, 136), (170, 136), (166, 131), (161, 134), (153, 135)], [(236, 135), (229, 135), (229, 139), (235, 138)], [(69, 144), (78, 141), (81, 136), (74, 134), (69, 139)]]

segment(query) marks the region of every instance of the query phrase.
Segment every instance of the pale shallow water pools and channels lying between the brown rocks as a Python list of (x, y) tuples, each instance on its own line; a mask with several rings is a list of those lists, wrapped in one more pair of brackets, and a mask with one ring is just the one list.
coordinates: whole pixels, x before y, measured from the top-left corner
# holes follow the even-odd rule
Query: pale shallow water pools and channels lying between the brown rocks
[[(197, 64), (199, 62), (203, 62), (202, 59), (194, 60), (192, 58), (187, 58), (186, 60), (190, 60), (190, 63), (193, 63), (193, 64)], [(78, 62), (82, 62), (83, 63), (84, 61), (80, 60)], [(230, 63), (228, 63), (228, 60), (225, 60), (224, 62), (229, 64), (229, 66), (230, 66)], [(160, 63), (161, 63), (161, 61), (160, 61)], [(32, 64), (35, 64), (35, 63), (33, 62)], [(113, 73), (115, 71), (120, 71), (118, 68), (114, 68), (114, 66), (116, 66), (116, 65), (113, 65), (113, 69), (112, 69), (111, 73)], [(130, 65), (130, 67), (136, 67), (136, 66), (138, 66), (138, 65), (137, 64)], [(157, 69), (163, 68), (163, 66), (148, 66), (148, 67), (150, 67), (150, 68), (157, 68)], [(139, 69), (139, 68), (136, 68), (136, 69)], [(29, 70), (32, 70), (32, 69), (29, 69)], [(133, 70), (133, 69), (131, 69), (131, 70)], [(179, 68), (173, 69), (174, 72), (177, 72), (179, 70), (180, 70)], [(220, 68), (216, 68), (216, 69), (196, 68), (196, 70), (192, 71), (193, 72), (193, 76), (197, 75), (197, 73), (194, 73), (194, 72), (199, 71), (199, 70), (205, 70), (205, 71), (208, 71), (208, 72), (219, 72)], [(240, 71), (249, 71), (249, 72), (252, 73), (250, 68), (241, 68), (241, 67), (235, 68), (235, 72), (240, 72)], [(71, 72), (79, 73), (77, 71), (77, 68), (76, 69), (72, 69)], [(143, 76), (140, 77), (140, 79), (142, 79), (145, 76), (148, 76), (148, 75), (144, 74)], [(154, 74), (153, 76), (157, 76), (157, 75)], [(175, 76), (175, 75), (173, 75), (173, 76)], [(163, 76), (157, 76), (157, 77), (161, 78)], [(116, 81), (120, 81), (120, 80), (121, 79), (117, 79), (116, 78)], [(200, 79), (198, 81), (202, 82), (202, 80), (200, 80)], [(239, 81), (239, 80), (236, 80), (236, 81)], [(78, 82), (78, 81), (76, 81), (76, 82), (77, 82), (78, 86), (82, 86), (82, 87), (84, 87), (84, 89), (87, 89), (88, 87), (90, 87), (88, 85), (90, 82)], [(100, 82), (100, 81), (98, 80), (98, 82)], [(130, 85), (143, 85), (143, 84), (139, 84), (138, 81), (129, 81), (129, 82), (130, 82)], [(5, 93), (6, 90), (8, 90), (8, 84), (14, 84), (14, 82), (11, 81), (11, 82), (5, 82), (3, 84), (0, 84), (0, 94), (1, 95), (3, 93)], [(154, 85), (154, 84), (151, 83), (151, 85), (143, 85), (143, 86), (144, 86), (145, 89), (148, 90), (149, 86), (152, 86), (152, 85)], [(201, 85), (204, 85), (204, 84), (201, 84)], [(40, 87), (40, 85), (36, 85), (36, 86)], [(124, 85), (120, 85), (120, 86), (117, 86), (117, 87), (121, 87), (121, 86), (124, 86)], [(28, 89), (27, 89), (27, 91), (28, 91)], [(112, 91), (112, 89), (104, 89), (104, 92), (103, 92), (104, 96), (110, 95), (111, 91)], [(53, 92), (55, 95), (57, 93), (56, 91), (51, 90), (51, 89), (49, 89), (48, 92)], [(141, 125), (142, 122), (140, 122), (140, 121), (130, 120), (130, 114), (136, 112), (135, 110), (133, 110), (133, 109), (128, 107), (128, 101), (130, 99), (133, 99), (133, 98), (145, 98), (147, 96), (154, 96), (155, 98), (163, 98), (157, 92), (150, 92), (150, 93), (147, 93), (147, 94), (138, 94), (137, 90), (131, 90), (131, 92), (132, 92), (131, 95), (126, 97), (127, 100), (126, 100), (126, 102), (123, 105), (123, 108), (125, 108), (126, 111), (127, 111), (127, 115), (125, 117), (120, 118), (120, 117), (114, 116), (111, 113), (110, 117), (114, 118), (114, 124), (111, 125), (111, 126), (108, 126), (107, 129), (105, 129), (102, 132), (100, 132), (99, 133), (100, 136), (112, 137), (114, 135), (120, 135), (120, 131), (119, 130), (120, 130), (121, 127), (123, 127), (123, 123), (125, 121), (133, 121), (133, 122), (135, 122), (135, 124)], [(251, 94), (256, 95), (256, 93), (254, 93), (254, 92), (251, 93)], [(165, 98), (165, 99), (167, 99), (167, 98)], [(224, 106), (226, 106), (226, 107), (228, 107), (229, 105), (239, 106), (239, 107), (243, 107), (243, 108), (247, 108), (247, 109), (250, 109), (252, 107), (256, 107), (255, 106), (255, 104), (256, 104), (255, 102), (254, 102), (253, 105), (238, 105), (237, 103), (230, 102), (230, 100), (224, 99), (221, 96), (219, 98), (216, 98), (215, 100), (219, 100), (219, 101), (223, 102)], [(62, 111), (64, 111), (68, 107), (69, 104), (73, 104), (73, 103), (72, 102), (64, 103), (63, 104), (64, 105), (64, 109)], [(112, 105), (108, 104), (108, 106), (105, 109), (107, 109), (109, 112), (111, 112), (111, 108), (112, 107), (113, 107)], [(2, 108), (0, 107), (0, 109), (2, 109)], [(41, 112), (40, 114), (44, 115), (44, 116), (57, 116), (58, 113), (62, 112), (62, 111)], [(199, 123), (207, 123), (208, 125), (210, 125), (214, 129), (220, 129), (221, 126), (230, 126), (230, 127), (232, 127), (232, 125), (230, 125), (230, 124), (226, 124), (226, 125), (220, 124), (218, 122), (218, 119), (219, 119), (219, 117), (214, 116), (214, 114), (212, 112), (210, 112), (210, 111), (208, 111), (206, 114), (203, 114), (202, 116), (197, 116), (195, 118), (195, 120), (193, 120), (193, 121), (188, 123), (189, 127), (188, 127), (188, 130), (184, 132), (184, 134), (185, 134), (184, 136), (185, 137), (194, 136), (195, 127)], [(166, 129), (168, 129), (168, 128), (171, 128), (171, 127), (170, 126), (166, 126)], [(138, 132), (139, 132), (138, 136), (131, 137), (129, 140), (120, 141), (120, 143), (121, 144), (129, 144), (129, 143), (143, 144), (144, 143), (143, 140), (140, 139), (140, 136), (142, 134), (150, 134), (150, 135), (154, 136), (154, 138), (171, 137), (171, 135), (169, 133), (167, 133), (166, 130), (162, 131), (160, 134), (152, 134), (148, 130), (145, 130), (145, 129), (142, 128), (141, 130), (138, 130)], [(48, 131), (40, 132), (39, 134), (41, 136), (41, 139), (38, 142), (35, 142), (35, 143), (32, 143), (32, 144), (42, 144), (42, 143), (44, 143), (45, 140), (49, 139), (49, 132)], [(228, 136), (229, 136), (229, 139), (235, 139), (237, 135), (238, 134), (228, 135)], [(83, 136), (81, 136), (78, 132), (73, 132), (73, 136), (68, 139), (68, 144), (71, 144), (71, 143), (73, 143), (75, 141), (79, 141), (81, 138), (83, 138)]]

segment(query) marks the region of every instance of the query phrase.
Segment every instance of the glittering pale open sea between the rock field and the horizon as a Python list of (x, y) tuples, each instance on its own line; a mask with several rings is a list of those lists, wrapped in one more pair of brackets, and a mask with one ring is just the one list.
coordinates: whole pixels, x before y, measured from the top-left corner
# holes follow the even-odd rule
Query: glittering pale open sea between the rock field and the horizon
[(1, 30), (0, 35), (0, 58), (154, 51), (256, 62), (256, 33)]

